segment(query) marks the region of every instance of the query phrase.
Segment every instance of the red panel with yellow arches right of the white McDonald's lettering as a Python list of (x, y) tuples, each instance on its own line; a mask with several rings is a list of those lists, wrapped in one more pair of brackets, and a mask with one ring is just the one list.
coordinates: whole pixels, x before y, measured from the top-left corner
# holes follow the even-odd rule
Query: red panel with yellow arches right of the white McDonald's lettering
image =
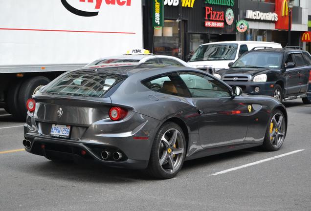
[(289, 6), (286, 0), (275, 0), (275, 13), (278, 15), (278, 21), (275, 22), (275, 29), (288, 30)]

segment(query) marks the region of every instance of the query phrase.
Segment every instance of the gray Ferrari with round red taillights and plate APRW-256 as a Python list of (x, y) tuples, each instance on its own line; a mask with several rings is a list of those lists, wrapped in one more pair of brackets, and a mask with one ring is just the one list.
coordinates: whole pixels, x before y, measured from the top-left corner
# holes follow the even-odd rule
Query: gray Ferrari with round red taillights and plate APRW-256
[(50, 160), (89, 159), (172, 178), (185, 160), (281, 148), (284, 105), (243, 96), (191, 67), (103, 64), (69, 71), (27, 101), (23, 145)]

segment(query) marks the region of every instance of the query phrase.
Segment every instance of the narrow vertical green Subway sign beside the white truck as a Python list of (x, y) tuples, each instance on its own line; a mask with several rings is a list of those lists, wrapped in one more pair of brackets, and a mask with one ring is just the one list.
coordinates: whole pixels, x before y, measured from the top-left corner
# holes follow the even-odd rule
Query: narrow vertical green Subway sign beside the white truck
[(164, 0), (152, 0), (152, 25), (155, 29), (164, 26)]

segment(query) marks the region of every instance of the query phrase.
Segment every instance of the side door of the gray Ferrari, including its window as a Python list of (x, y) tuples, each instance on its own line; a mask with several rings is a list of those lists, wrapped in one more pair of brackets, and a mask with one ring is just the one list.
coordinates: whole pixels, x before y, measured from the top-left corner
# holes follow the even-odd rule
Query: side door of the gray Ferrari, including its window
[(198, 127), (203, 148), (243, 144), (247, 132), (247, 105), (243, 97), (232, 99), (226, 85), (205, 74), (180, 72), (200, 114)]

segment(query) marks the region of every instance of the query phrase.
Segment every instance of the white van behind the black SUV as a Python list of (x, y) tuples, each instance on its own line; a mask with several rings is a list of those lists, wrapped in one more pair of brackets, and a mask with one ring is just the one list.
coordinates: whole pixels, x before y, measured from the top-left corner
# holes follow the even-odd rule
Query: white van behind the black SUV
[(242, 54), (254, 48), (282, 48), (276, 42), (226, 41), (211, 42), (200, 45), (190, 61), (191, 66), (208, 70), (210, 73), (228, 68), (228, 63), (235, 62)]

